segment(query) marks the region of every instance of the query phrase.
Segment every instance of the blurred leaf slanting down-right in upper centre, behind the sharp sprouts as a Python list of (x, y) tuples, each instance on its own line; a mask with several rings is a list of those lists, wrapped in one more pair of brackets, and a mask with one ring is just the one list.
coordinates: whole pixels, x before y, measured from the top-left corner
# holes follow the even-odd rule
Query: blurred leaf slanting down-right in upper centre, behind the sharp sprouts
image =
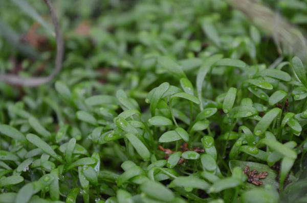
[(158, 63), (165, 68), (170, 74), (176, 76), (177, 78), (186, 78), (180, 65), (171, 60), (168, 57), (159, 57)]

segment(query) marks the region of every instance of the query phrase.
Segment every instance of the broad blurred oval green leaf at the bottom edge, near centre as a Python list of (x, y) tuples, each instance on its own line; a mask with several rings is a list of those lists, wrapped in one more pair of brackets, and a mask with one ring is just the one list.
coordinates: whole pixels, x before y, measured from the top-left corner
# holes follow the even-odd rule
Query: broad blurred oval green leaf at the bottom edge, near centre
[[(174, 199), (173, 192), (158, 182), (146, 181), (141, 185), (141, 191), (151, 198), (161, 201), (172, 201)], [(157, 195), (159, 194), (159, 195)]]

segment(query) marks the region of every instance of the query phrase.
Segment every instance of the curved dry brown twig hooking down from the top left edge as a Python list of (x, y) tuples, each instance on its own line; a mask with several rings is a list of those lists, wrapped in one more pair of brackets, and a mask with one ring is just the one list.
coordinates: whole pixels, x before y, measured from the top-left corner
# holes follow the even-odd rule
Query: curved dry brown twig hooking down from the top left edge
[(53, 72), (48, 77), (32, 77), (32, 78), (21, 78), (18, 75), (14, 74), (1, 74), (0, 81), (6, 82), (11, 85), (35, 87), (50, 82), (55, 77), (55, 75), (61, 70), (62, 60), (63, 60), (63, 38), (60, 33), (57, 17), (55, 15), (53, 7), (51, 6), (50, 1), (49, 0), (43, 0), (43, 1), (46, 3), (46, 5), (49, 8), (56, 38), (56, 57), (55, 57), (55, 68)]

